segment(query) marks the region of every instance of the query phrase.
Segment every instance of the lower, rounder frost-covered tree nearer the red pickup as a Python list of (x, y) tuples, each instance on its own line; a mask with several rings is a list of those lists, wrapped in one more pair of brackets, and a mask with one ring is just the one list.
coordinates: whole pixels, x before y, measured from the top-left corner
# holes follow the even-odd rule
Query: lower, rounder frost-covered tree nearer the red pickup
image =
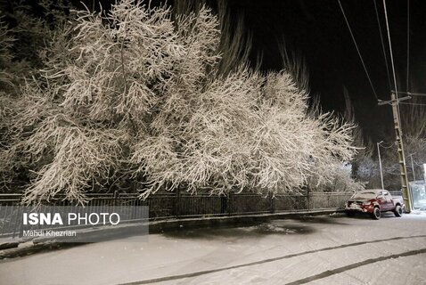
[(192, 98), (189, 120), (157, 126), (160, 135), (136, 148), (133, 159), (150, 181), (143, 198), (179, 184), (215, 194), (293, 191), (309, 178), (332, 179), (354, 154), (353, 126), (331, 114), (307, 116), (307, 94), (287, 73), (242, 69), (205, 90)]

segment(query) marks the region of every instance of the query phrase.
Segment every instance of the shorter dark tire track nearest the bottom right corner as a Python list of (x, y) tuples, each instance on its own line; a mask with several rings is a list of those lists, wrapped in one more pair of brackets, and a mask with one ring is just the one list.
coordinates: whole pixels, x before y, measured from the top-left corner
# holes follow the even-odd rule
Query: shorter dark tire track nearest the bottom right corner
[(426, 253), (426, 248), (410, 250), (410, 251), (406, 251), (406, 252), (403, 252), (403, 253), (390, 255), (390, 256), (380, 256), (380, 257), (376, 257), (376, 258), (370, 258), (370, 259), (366, 259), (364, 261), (356, 262), (355, 264), (342, 266), (342, 267), (335, 268), (335, 269), (332, 269), (332, 270), (327, 270), (327, 271), (324, 271), (324, 273), (319, 273), (319, 274), (309, 276), (307, 278), (299, 279), (297, 281), (292, 281), (290, 283), (286, 283), (286, 285), (306, 284), (307, 282), (323, 279), (325, 277), (329, 277), (329, 276), (332, 276), (334, 274), (344, 273), (345, 271), (355, 269), (356, 267), (361, 267), (361, 266), (364, 266), (364, 265), (371, 265), (373, 263), (381, 262), (381, 261), (392, 259), (392, 258), (405, 257), (405, 256), (416, 256), (416, 255), (420, 255), (420, 254), (423, 254), (423, 253)]

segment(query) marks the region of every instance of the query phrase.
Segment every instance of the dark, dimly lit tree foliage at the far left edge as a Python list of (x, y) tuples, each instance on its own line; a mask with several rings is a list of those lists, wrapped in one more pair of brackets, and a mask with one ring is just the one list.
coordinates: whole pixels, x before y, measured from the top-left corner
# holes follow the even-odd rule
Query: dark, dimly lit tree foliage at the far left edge
[[(12, 118), (19, 118), (23, 107), (33, 102), (20, 96), (20, 87), (32, 78), (39, 79), (38, 69), (43, 68), (43, 53), (39, 52), (53, 39), (56, 28), (68, 20), (69, 5), (66, 0), (0, 3), (0, 152), (12, 144)], [(7, 165), (0, 166), (2, 181), (11, 181), (16, 176), (20, 176), (22, 182), (26, 180), (21, 168), (2, 171)], [(4, 183), (4, 188), (7, 189), (7, 185)]]

